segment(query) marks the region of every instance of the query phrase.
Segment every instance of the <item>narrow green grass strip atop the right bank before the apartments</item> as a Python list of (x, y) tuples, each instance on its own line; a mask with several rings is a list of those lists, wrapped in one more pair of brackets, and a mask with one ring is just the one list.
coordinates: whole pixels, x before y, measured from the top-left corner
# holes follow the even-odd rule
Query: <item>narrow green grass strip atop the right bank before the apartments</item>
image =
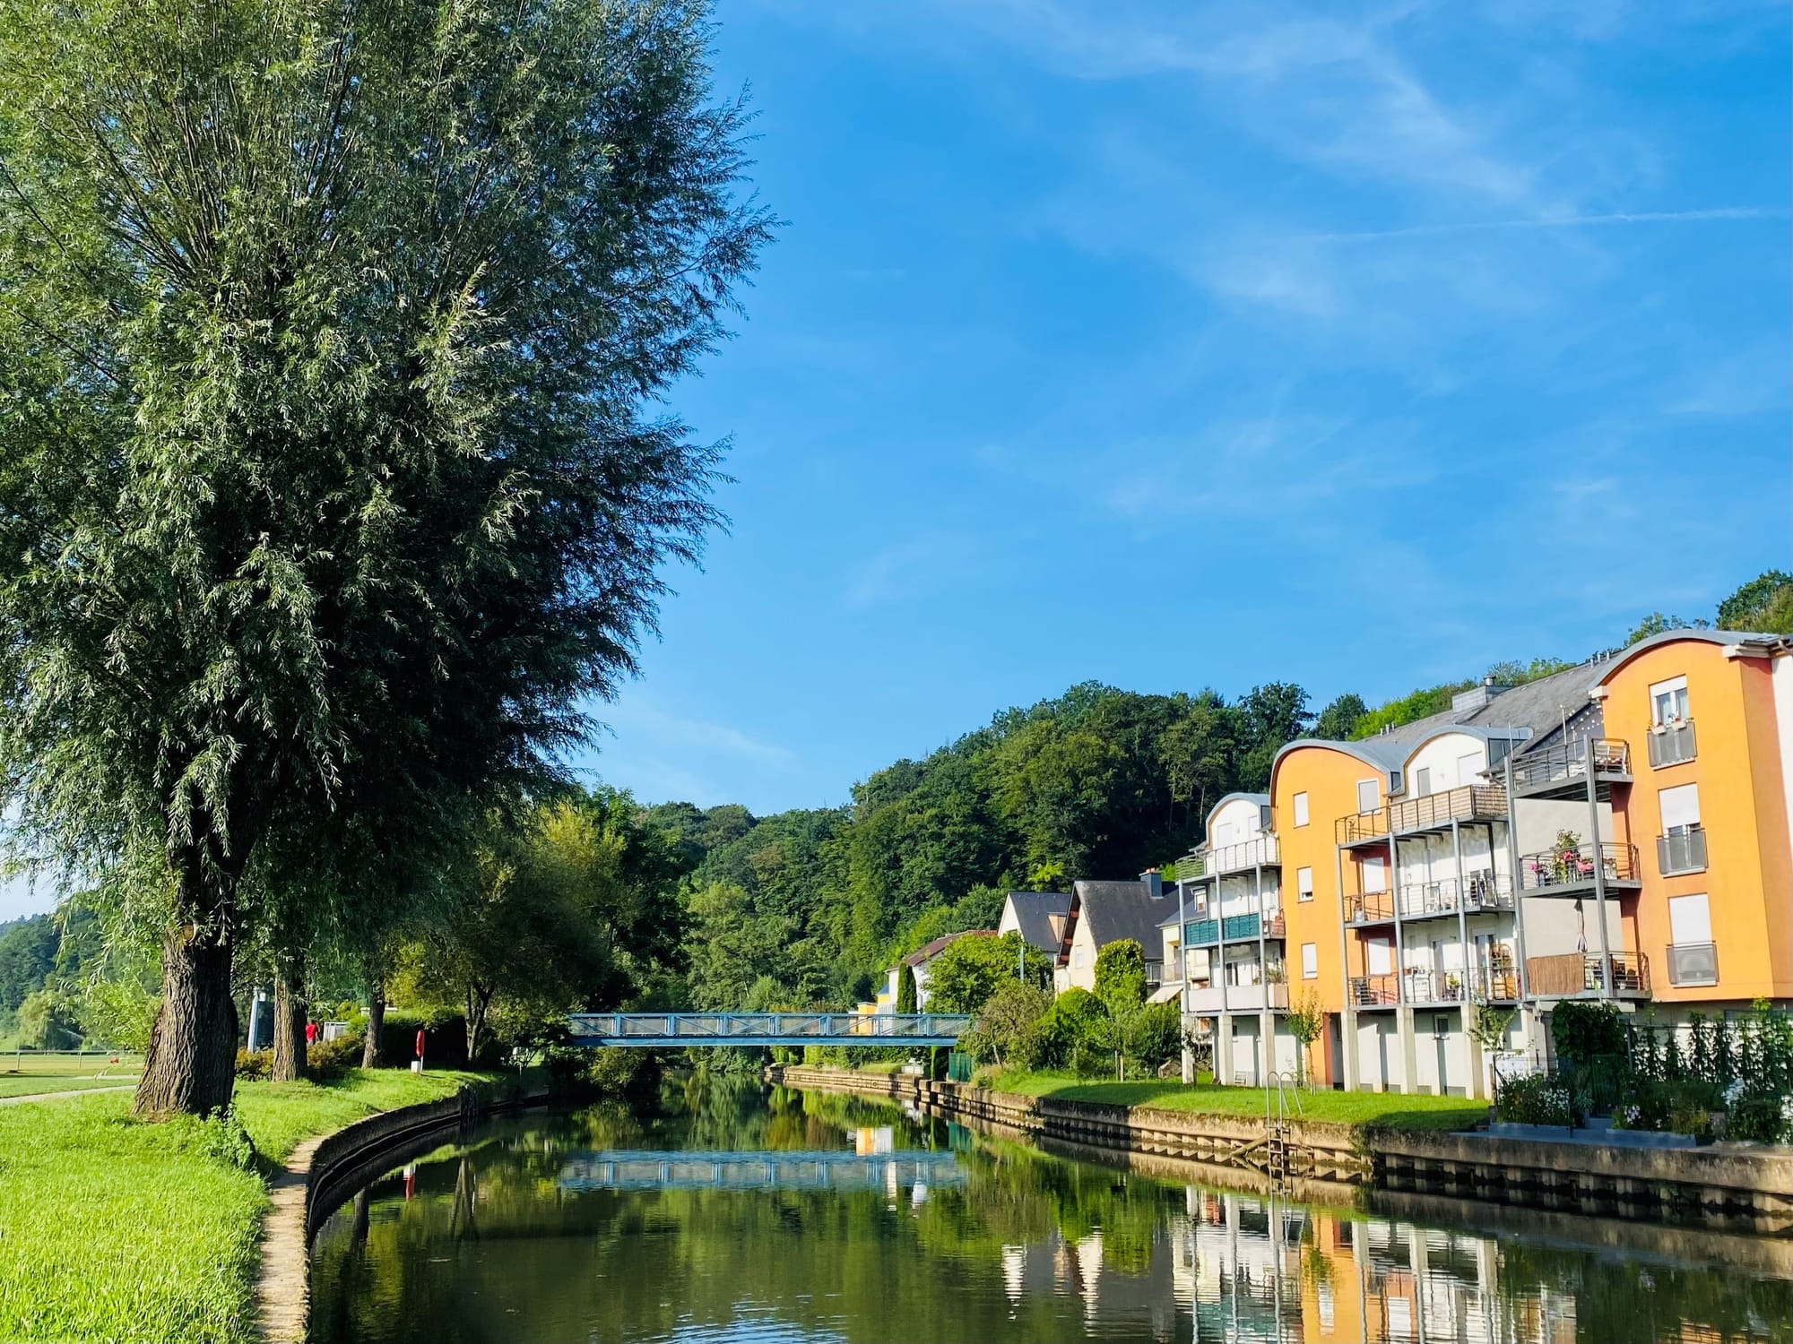
[[(1264, 1115), (1262, 1088), (1183, 1086), (1169, 1081), (1090, 1082), (1072, 1073), (1024, 1073), (1002, 1070), (988, 1075), (997, 1091), (1022, 1097), (1052, 1097), (1067, 1102), (1106, 1106), (1153, 1106), (1165, 1111), (1201, 1115)], [(1468, 1129), (1488, 1118), (1488, 1102), (1463, 1097), (1408, 1097), (1386, 1091), (1304, 1091), (1302, 1115), (1307, 1120), (1336, 1120), (1347, 1125), (1382, 1125), (1388, 1129)]]

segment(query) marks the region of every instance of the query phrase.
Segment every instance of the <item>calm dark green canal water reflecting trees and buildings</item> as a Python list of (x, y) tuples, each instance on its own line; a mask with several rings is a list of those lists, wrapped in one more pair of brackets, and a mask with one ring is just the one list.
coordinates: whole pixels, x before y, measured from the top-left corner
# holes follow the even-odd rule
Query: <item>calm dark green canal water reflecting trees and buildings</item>
[(350, 1197), (312, 1339), (1793, 1340), (1784, 1240), (1156, 1170), (678, 1079), (489, 1120)]

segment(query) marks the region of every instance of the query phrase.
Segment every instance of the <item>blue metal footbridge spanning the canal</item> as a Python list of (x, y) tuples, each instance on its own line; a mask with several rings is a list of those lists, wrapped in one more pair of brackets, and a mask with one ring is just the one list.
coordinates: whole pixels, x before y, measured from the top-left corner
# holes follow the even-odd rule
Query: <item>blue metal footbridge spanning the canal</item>
[(579, 1012), (574, 1045), (954, 1045), (957, 1012)]

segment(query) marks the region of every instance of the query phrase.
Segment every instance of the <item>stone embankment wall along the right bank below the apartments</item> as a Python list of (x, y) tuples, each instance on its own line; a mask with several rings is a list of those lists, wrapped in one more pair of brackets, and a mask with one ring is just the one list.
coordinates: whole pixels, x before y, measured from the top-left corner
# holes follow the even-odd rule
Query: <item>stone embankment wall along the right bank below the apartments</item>
[[(1262, 1120), (1151, 1107), (1018, 1097), (968, 1082), (773, 1066), (773, 1082), (889, 1097), (974, 1125), (1112, 1152), (1194, 1161), (1198, 1179), (1264, 1181)], [(1793, 1231), (1793, 1149), (1712, 1143), (1626, 1149), (1495, 1138), (1481, 1133), (1406, 1133), (1343, 1124), (1287, 1127), (1291, 1177), (1524, 1208), (1607, 1217), (1667, 1219), (1736, 1231)]]

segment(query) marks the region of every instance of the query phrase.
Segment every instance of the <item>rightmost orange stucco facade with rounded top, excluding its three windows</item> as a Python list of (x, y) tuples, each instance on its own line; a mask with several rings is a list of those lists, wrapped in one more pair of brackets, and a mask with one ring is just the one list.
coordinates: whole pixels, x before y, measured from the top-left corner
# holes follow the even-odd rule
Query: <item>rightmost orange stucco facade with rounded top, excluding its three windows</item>
[[(1727, 647), (1700, 634), (1651, 642), (1619, 658), (1596, 690), (1607, 737), (1632, 747), (1633, 783), (1614, 797), (1614, 830), (1642, 857), (1637, 937), (1650, 959), (1653, 998), (1664, 1004), (1793, 998), (1793, 848), (1784, 778), (1789, 726), (1777, 715), (1773, 681), (1786, 656), (1728, 656)], [(1651, 686), (1675, 677), (1687, 679), (1694, 756), (1651, 767)], [(1657, 857), (1657, 837), (1664, 833), (1660, 796), (1678, 785), (1698, 788), (1707, 862), (1702, 871), (1664, 876)], [(1707, 898), (1718, 984), (1675, 986), (1669, 901), (1698, 894)]]

